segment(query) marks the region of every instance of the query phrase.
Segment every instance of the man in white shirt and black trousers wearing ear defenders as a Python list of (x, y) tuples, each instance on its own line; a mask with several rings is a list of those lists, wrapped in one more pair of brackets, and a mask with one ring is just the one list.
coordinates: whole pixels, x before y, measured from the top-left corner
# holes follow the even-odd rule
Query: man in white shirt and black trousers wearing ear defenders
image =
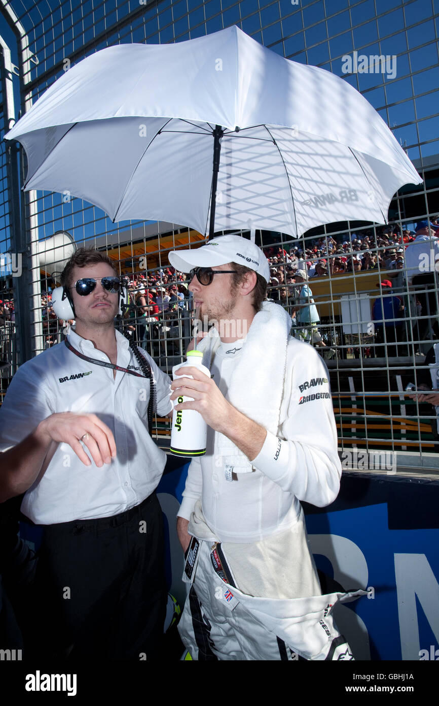
[[(0, 409), (0, 501), (25, 493), (21, 510), (43, 532), (25, 656), (34, 647), (39, 657), (154, 659), (166, 455), (149, 435), (150, 381), (114, 328), (120, 279), (109, 258), (80, 249), (61, 282), (76, 322), (67, 345), (21, 366)], [(165, 416), (170, 380), (140, 355)]]

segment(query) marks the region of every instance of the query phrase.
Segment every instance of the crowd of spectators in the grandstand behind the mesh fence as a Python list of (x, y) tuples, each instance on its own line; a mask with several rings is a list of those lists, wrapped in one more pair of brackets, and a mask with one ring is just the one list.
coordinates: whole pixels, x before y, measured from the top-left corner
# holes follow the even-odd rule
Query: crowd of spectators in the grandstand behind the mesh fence
[[(416, 239), (418, 232), (435, 234), (439, 229), (438, 217), (432, 217), (429, 222), (421, 221), (414, 225), (414, 229), (401, 229), (400, 225), (388, 225), (381, 228), (361, 229), (356, 233), (337, 234), (337, 237), (324, 235), (314, 239), (298, 239), (289, 244), (273, 244), (264, 249), (270, 263), (271, 279), (268, 283), (267, 297), (271, 301), (283, 304), (292, 316), (293, 335), (299, 335), (303, 340), (325, 347), (323, 337), (318, 333), (319, 315), (314, 313), (318, 309), (318, 302), (312, 299), (312, 282), (321, 277), (340, 277), (342, 275), (357, 275), (376, 270), (377, 287), (380, 292), (400, 293), (399, 304), (395, 299), (390, 315), (396, 321), (395, 336), (392, 330), (385, 326), (384, 306), (381, 309), (381, 322), (375, 331), (376, 344), (383, 343), (383, 330), (387, 329), (388, 342), (407, 338), (407, 325), (405, 334), (398, 335), (399, 324), (407, 317), (409, 306), (404, 301), (402, 292), (407, 292), (407, 268), (405, 254), (407, 247)], [(383, 276), (381, 273), (385, 273)], [(182, 320), (189, 318), (192, 311), (192, 293), (187, 287), (187, 277), (183, 273), (175, 272), (168, 265), (161, 268), (140, 273), (124, 275), (128, 282), (130, 301), (124, 314), (124, 328), (128, 335), (135, 338), (139, 345), (146, 347), (147, 340), (152, 338), (177, 340), (182, 336)], [(50, 286), (52, 285), (52, 286)], [(51, 306), (51, 291), (56, 283), (42, 279), (42, 327), (44, 333), (44, 347), (50, 347), (61, 340), (66, 333), (66, 326), (70, 322), (60, 321)], [(15, 307), (12, 292), (0, 295), (0, 328), (13, 325), (15, 321)], [(305, 297), (307, 301), (299, 301)], [(389, 302), (388, 302), (389, 303)], [(307, 306), (305, 306), (307, 304)], [(421, 302), (415, 297), (414, 306), (416, 313), (421, 313)], [(307, 310), (306, 316), (304, 314)], [(392, 313), (393, 312), (393, 313)], [(378, 312), (379, 313), (379, 312)], [(413, 312), (412, 312), (413, 313)], [(314, 316), (314, 321), (312, 320)], [(8, 324), (8, 322), (10, 322)], [(381, 325), (380, 325), (381, 324)], [(384, 325), (383, 325), (384, 324)], [(384, 341), (385, 342), (385, 341)], [(328, 341), (330, 348), (334, 341)], [(328, 348), (328, 349), (329, 349)], [(380, 354), (385, 354), (383, 349), (377, 347)], [(168, 347), (161, 342), (160, 353), (168, 352)], [(376, 352), (376, 354), (378, 354)], [(395, 354), (392, 349), (390, 351)], [(352, 349), (352, 354), (355, 354)], [(370, 349), (365, 349), (364, 354), (371, 355)], [(389, 351), (388, 351), (388, 354)], [(326, 356), (330, 357), (330, 356)]]

